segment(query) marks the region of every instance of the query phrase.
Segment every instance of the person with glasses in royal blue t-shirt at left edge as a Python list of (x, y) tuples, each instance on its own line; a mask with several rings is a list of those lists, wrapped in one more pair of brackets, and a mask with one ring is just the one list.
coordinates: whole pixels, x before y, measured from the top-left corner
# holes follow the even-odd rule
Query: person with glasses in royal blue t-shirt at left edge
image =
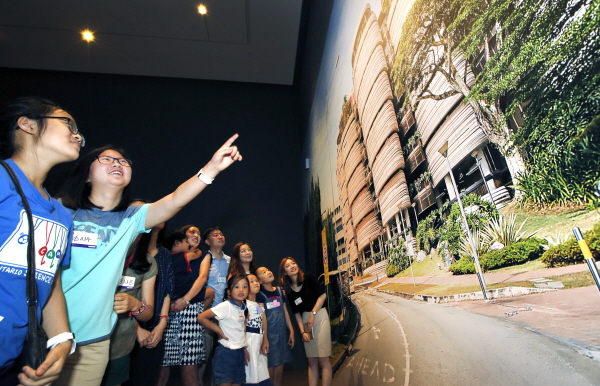
[[(9, 102), (0, 117), (0, 159), (17, 177), (31, 208), (30, 234), (21, 196), (0, 167), (0, 384), (47, 385), (53, 382), (74, 348), (59, 269), (69, 263), (72, 220), (44, 189), (55, 165), (76, 160), (83, 146), (73, 117), (38, 97)], [(37, 368), (20, 368), (18, 357), (27, 336), (27, 244), (35, 242), (37, 318), (50, 338), (50, 351)], [(20, 373), (20, 374), (19, 374)]]

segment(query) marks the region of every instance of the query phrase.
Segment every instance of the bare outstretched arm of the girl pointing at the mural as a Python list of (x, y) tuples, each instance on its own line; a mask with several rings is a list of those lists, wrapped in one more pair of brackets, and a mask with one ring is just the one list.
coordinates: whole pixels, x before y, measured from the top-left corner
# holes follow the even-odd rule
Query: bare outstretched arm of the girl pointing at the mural
[[(202, 174), (208, 178), (214, 179), (217, 174), (227, 169), (235, 161), (241, 161), (242, 155), (237, 146), (232, 146), (237, 139), (235, 134), (221, 146), (213, 155), (210, 161), (202, 168)], [(150, 204), (148, 214), (146, 215), (146, 229), (154, 227), (156, 224), (165, 222), (179, 212), (185, 205), (192, 201), (200, 192), (206, 188), (206, 184), (197, 176), (193, 176), (171, 194), (163, 197), (159, 201)]]

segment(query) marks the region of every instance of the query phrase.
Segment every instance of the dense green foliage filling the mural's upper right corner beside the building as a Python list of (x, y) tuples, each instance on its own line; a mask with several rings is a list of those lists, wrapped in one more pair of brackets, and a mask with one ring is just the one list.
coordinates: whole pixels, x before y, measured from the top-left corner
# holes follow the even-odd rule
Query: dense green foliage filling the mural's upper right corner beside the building
[(523, 199), (598, 206), (592, 186), (600, 178), (600, 2), (454, 0), (454, 6), (460, 11), (450, 29), (472, 25), (459, 45), (470, 57), (496, 30), (497, 52), (468, 99), (506, 102), (505, 118), (524, 109), (524, 123), (504, 149), (524, 158), (526, 172), (513, 176)]

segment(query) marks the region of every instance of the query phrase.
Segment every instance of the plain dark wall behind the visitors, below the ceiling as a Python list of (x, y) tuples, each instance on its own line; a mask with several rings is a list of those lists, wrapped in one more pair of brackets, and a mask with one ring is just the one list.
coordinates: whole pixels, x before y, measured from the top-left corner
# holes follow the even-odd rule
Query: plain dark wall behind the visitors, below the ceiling
[[(296, 88), (249, 83), (0, 68), (0, 103), (39, 95), (69, 110), (87, 145), (125, 148), (135, 197), (158, 200), (198, 172), (234, 133), (244, 160), (220, 174), (169, 227), (219, 225), (229, 252), (252, 245), (271, 269), (303, 256), (302, 140)], [(56, 193), (73, 164), (47, 180)]]

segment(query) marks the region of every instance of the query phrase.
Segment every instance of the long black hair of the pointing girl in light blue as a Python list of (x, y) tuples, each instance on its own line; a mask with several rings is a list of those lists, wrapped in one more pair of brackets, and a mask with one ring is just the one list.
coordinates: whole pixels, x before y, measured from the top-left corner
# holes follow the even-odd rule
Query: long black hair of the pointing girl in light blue
[[(127, 156), (127, 152), (112, 145), (106, 145), (99, 149), (94, 149), (85, 156), (81, 157), (79, 161), (77, 161), (77, 165), (75, 166), (75, 170), (73, 170), (71, 177), (66, 180), (65, 184), (62, 186), (62, 189), (57, 195), (57, 197), (61, 198), (64, 206), (74, 210), (92, 208), (102, 209), (90, 201), (92, 184), (87, 182), (87, 179), (90, 174), (90, 167), (92, 163), (106, 150), (114, 150), (121, 154), (123, 158), (129, 158)], [(111, 212), (122, 212), (127, 209), (131, 201), (129, 198), (131, 195), (130, 186), (131, 184), (127, 184), (125, 189), (123, 189), (121, 201), (113, 210), (111, 210)]]

